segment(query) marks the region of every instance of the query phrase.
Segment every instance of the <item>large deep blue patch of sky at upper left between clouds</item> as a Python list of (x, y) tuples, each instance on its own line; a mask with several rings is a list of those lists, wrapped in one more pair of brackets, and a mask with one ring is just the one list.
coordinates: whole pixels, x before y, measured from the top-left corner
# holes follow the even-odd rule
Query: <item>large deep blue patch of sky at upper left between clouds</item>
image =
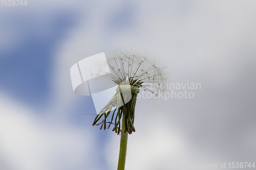
[[(77, 22), (74, 14), (65, 11), (44, 19), (36, 12), (5, 17), (2, 25), (11, 27), (22, 38), (0, 52), (1, 88), (31, 107), (46, 107), (51, 98), (54, 48)], [(8, 39), (15, 41), (15, 37)]]

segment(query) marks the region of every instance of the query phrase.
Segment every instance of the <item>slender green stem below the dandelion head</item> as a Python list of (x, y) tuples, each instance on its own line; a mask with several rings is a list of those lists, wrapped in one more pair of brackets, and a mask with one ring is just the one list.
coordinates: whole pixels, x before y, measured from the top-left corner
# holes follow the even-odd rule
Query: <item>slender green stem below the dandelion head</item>
[(126, 159), (126, 149), (127, 149), (127, 139), (128, 139), (128, 132), (125, 132), (125, 115), (122, 116), (122, 132), (121, 132), (121, 141), (120, 141), (120, 151), (119, 151), (119, 159), (118, 159), (118, 166), (117, 170), (124, 170), (125, 166), (125, 159)]

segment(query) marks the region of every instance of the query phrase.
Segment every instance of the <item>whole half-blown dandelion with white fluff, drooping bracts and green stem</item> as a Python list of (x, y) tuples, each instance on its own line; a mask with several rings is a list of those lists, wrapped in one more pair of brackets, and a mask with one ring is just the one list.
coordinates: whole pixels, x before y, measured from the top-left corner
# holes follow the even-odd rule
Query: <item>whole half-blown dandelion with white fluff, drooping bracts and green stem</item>
[[(108, 129), (113, 124), (118, 135), (121, 133), (118, 170), (124, 169), (128, 134), (135, 132), (135, 105), (140, 90), (146, 90), (157, 96), (164, 90), (167, 75), (157, 59), (146, 54), (116, 50), (107, 58), (111, 72), (99, 72), (102, 77), (112, 80), (117, 86), (110, 102), (100, 111), (93, 122)], [(112, 112), (112, 110), (114, 110)], [(111, 122), (107, 122), (112, 113)], [(115, 116), (116, 113), (116, 116)], [(122, 119), (122, 121), (121, 121)]]

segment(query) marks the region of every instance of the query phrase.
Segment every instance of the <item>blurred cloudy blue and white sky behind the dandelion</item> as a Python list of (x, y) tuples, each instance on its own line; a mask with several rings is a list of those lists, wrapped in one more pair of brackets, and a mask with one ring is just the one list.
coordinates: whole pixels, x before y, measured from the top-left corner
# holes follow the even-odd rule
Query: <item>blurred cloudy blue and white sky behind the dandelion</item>
[(91, 126), (70, 67), (117, 47), (201, 83), (194, 99), (138, 100), (126, 169), (255, 161), (255, 1), (27, 3), (0, 6), (0, 169), (116, 169), (120, 136)]

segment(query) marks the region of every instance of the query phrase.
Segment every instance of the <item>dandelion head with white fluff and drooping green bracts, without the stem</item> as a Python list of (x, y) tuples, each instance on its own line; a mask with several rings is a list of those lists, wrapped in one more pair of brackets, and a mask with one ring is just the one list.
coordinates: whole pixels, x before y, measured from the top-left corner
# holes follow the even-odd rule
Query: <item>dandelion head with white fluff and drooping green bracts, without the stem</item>
[[(104, 113), (103, 120), (101, 121), (99, 115), (97, 115), (93, 125), (102, 124), (101, 128), (104, 125), (105, 130), (105, 124), (109, 123), (106, 122), (106, 118), (110, 114), (112, 108), (115, 108), (115, 110), (117, 108), (120, 108), (120, 115), (122, 115), (122, 112), (125, 110), (124, 108), (128, 108), (129, 111), (127, 112), (127, 115), (129, 118), (126, 119), (127, 122), (130, 121), (130, 123), (125, 125), (125, 131), (131, 134), (132, 132), (135, 132), (133, 115), (137, 94), (140, 91), (148, 91), (148, 93), (150, 93), (151, 96), (154, 96), (155, 98), (155, 96), (158, 96), (161, 91), (165, 90), (165, 87), (163, 85), (165, 85), (165, 80), (167, 80), (168, 76), (164, 72), (164, 67), (162, 66), (161, 61), (158, 58), (156, 58), (155, 56), (149, 56), (146, 53), (138, 53), (131, 50), (116, 50), (111, 52), (107, 57), (107, 64), (109, 65), (110, 72), (100, 71), (100, 76), (113, 81), (115, 84), (118, 85), (118, 87), (116, 88), (116, 93), (114, 94), (113, 98), (100, 111), (100, 113)], [(131, 91), (132, 100), (125, 104), (129, 107), (119, 106), (118, 101), (120, 101), (120, 96), (122, 96), (122, 100), (125, 100), (128, 96), (126, 96), (126, 93), (129, 93), (129, 91)], [(114, 112), (112, 113), (112, 117), (114, 116)], [(112, 120), (110, 125), (111, 124), (114, 124), (112, 123)], [(114, 125), (115, 127), (113, 128), (113, 131), (119, 134), (121, 125), (120, 121), (115, 122)]]

